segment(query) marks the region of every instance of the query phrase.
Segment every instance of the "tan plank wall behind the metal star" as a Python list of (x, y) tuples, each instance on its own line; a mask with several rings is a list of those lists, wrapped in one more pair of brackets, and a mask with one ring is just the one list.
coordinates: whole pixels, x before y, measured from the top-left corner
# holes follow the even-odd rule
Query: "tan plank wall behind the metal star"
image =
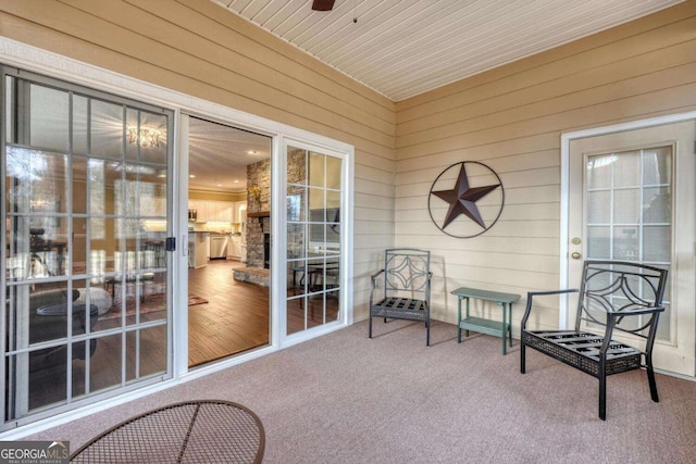
[[(434, 317), (456, 321), (460, 286), (558, 288), (562, 133), (692, 110), (696, 1), (398, 102), (395, 242), (432, 250)], [(431, 222), (427, 196), (467, 160), (498, 173), (506, 205), (486, 234), (456, 239)]]

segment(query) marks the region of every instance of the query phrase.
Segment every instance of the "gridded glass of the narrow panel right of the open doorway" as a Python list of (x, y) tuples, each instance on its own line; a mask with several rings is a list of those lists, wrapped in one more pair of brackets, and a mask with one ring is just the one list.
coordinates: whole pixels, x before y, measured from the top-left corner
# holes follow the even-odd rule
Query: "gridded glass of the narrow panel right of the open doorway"
[(343, 162), (295, 147), (287, 160), (289, 335), (339, 318)]

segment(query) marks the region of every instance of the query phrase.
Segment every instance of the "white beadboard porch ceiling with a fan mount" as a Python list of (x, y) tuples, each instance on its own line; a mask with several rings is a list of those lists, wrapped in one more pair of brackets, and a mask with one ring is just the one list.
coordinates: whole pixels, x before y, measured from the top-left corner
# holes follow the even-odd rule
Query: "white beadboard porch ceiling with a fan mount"
[(400, 101), (684, 0), (211, 1)]

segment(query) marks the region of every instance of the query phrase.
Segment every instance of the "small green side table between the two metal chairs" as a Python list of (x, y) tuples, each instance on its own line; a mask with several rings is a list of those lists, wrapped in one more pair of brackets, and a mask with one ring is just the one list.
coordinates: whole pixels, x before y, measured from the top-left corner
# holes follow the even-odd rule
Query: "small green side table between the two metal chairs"
[[(457, 342), (461, 343), (461, 329), (464, 336), (469, 337), (469, 330), (481, 334), (492, 335), (502, 338), (502, 354), (507, 354), (506, 338), (510, 337), (510, 347), (512, 347), (512, 303), (520, 299), (519, 294), (502, 293), (499, 291), (480, 290), (477, 288), (460, 287), (451, 292), (457, 296)], [(469, 300), (475, 298), (477, 300), (494, 301), (502, 306), (502, 323), (498, 321), (484, 319), (482, 317), (471, 317), (469, 315)], [(461, 318), (461, 300), (467, 300), (467, 314)]]

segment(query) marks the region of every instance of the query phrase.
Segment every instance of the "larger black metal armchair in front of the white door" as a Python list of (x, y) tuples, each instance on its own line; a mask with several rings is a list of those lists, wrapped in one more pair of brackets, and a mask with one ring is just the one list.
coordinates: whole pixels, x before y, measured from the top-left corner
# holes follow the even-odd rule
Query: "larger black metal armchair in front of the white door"
[[(607, 376), (645, 367), (652, 401), (659, 402), (652, 344), (667, 287), (667, 269), (631, 262), (587, 261), (580, 288), (573, 330), (529, 330), (534, 297), (577, 290), (527, 293), (522, 318), (520, 372), (525, 372), (525, 347), (533, 348), (599, 380), (599, 418), (607, 418)], [(645, 340), (645, 348), (612, 340), (616, 330)], [(642, 363), (642, 359), (645, 363)]]

